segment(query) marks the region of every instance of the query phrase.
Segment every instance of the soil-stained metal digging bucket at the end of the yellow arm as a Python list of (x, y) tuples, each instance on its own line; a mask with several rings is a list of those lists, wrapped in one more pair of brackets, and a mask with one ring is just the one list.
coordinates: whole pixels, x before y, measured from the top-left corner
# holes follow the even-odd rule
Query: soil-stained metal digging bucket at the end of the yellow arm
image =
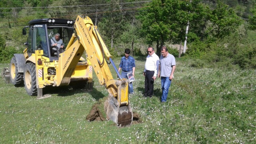
[(130, 103), (127, 106), (119, 106), (119, 102), (110, 96), (104, 103), (107, 119), (114, 121), (118, 127), (130, 126), (132, 123), (132, 108)]

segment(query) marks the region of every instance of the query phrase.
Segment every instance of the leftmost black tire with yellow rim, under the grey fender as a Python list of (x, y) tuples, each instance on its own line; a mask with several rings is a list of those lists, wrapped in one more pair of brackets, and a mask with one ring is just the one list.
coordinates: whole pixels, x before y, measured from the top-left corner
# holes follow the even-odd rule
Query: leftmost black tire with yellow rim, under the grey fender
[(18, 72), (16, 57), (12, 57), (10, 62), (10, 81), (15, 87), (23, 86), (23, 73)]

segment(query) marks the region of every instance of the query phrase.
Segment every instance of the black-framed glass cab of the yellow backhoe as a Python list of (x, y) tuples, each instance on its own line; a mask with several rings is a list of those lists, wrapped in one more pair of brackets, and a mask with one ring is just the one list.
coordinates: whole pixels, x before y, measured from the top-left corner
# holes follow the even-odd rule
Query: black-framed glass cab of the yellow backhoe
[[(38, 19), (29, 22), (29, 26), (23, 28), (23, 35), (26, 35), (26, 29), (29, 28), (27, 45), (28, 56), (30, 57), (35, 50), (43, 50), (43, 56), (50, 61), (58, 60), (60, 46), (63, 49), (68, 44), (74, 32), (74, 21), (65, 19)], [(59, 35), (56, 40), (55, 35)], [(57, 46), (53, 46), (58, 43)]]

